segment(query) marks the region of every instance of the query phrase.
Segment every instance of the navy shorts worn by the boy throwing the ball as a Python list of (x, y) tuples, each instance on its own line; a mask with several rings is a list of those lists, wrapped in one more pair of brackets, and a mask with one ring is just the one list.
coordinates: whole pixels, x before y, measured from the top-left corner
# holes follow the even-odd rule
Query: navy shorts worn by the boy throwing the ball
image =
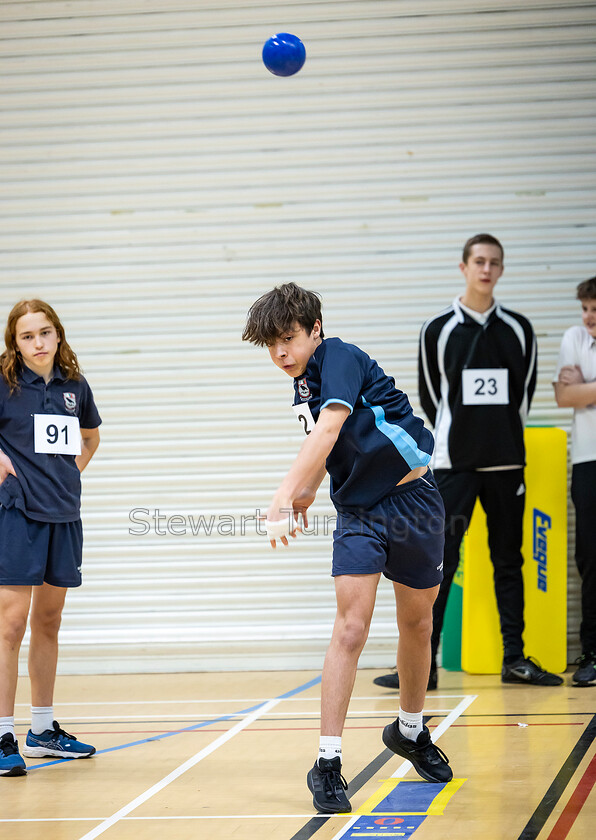
[(332, 575), (382, 572), (412, 589), (443, 580), (445, 508), (430, 470), (399, 484), (374, 507), (338, 510)]

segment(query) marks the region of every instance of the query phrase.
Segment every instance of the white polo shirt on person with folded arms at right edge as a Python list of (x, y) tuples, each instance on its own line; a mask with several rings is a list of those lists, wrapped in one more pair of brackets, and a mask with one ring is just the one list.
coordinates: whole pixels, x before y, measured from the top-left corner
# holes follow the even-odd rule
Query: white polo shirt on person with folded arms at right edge
[[(562, 367), (578, 365), (585, 382), (596, 381), (596, 339), (584, 326), (570, 327), (563, 336), (554, 382)], [(571, 460), (596, 461), (596, 405), (573, 409)]]

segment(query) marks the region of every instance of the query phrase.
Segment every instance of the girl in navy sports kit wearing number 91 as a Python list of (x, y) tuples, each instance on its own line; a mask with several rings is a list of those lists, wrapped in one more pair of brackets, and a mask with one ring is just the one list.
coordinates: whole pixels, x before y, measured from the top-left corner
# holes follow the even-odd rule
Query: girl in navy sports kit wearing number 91
[(81, 585), (81, 479), (99, 445), (91, 388), (51, 306), (18, 303), (0, 356), (0, 775), (27, 770), (14, 731), (19, 648), (30, 617), (31, 729), (23, 755), (88, 758), (53, 715), (67, 588)]

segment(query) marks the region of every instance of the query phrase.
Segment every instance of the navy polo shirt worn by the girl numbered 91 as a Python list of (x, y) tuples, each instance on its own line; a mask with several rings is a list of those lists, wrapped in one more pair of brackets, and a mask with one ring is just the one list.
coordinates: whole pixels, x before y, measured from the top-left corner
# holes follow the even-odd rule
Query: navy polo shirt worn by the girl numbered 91
[(17, 507), (39, 522), (76, 522), (81, 516), (81, 474), (75, 456), (35, 452), (33, 415), (76, 416), (82, 429), (96, 429), (101, 417), (91, 388), (82, 377), (65, 379), (57, 366), (47, 384), (24, 366), (19, 386), (11, 394), (0, 376), (0, 449), (17, 474), (0, 484), (0, 504)]

